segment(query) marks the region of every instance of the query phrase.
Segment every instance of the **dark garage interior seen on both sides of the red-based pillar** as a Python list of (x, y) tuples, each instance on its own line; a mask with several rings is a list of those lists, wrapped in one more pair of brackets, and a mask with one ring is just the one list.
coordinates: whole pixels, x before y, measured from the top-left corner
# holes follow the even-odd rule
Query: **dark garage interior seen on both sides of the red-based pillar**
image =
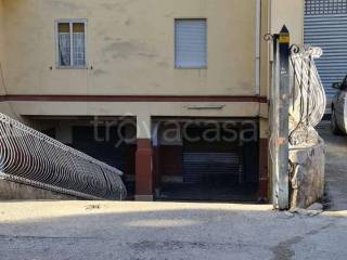
[[(61, 119), (61, 118), (60, 118)], [(110, 119), (111, 120), (111, 119)], [(106, 120), (105, 120), (106, 121)], [(117, 120), (116, 120), (117, 121)], [(153, 191), (157, 200), (249, 202), (258, 199), (259, 142), (258, 121), (224, 119), (210, 121), (175, 119), (175, 123), (154, 118), (157, 134), (153, 139)], [(120, 122), (120, 121), (119, 121)], [(119, 142), (121, 136), (136, 136), (136, 122), (105, 125), (95, 128), (81, 118), (40, 121), (43, 132), (63, 139), (65, 144), (124, 172), (128, 199), (136, 191), (137, 140)], [(64, 127), (63, 131), (61, 126)], [(188, 126), (188, 127), (187, 127)], [(217, 128), (216, 128), (217, 127)], [(177, 136), (166, 136), (166, 131)], [(218, 130), (218, 131), (217, 131)], [(60, 136), (60, 135), (69, 135)], [(217, 135), (216, 135), (217, 134)]]

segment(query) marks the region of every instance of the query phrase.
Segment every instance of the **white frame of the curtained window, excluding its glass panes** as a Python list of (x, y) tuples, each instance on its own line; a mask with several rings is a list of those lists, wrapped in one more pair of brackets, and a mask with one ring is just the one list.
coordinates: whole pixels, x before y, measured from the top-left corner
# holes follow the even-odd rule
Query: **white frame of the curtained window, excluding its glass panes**
[[(63, 18), (56, 20), (54, 23), (55, 29), (55, 67), (59, 69), (87, 69), (88, 64), (88, 35), (87, 35), (87, 24), (88, 21), (86, 18)], [(73, 25), (74, 24), (85, 24), (85, 66), (75, 66), (74, 65), (74, 37), (70, 35), (70, 65), (69, 66), (62, 66), (60, 64), (60, 51), (59, 51), (59, 24), (69, 24), (69, 31), (73, 34)]]

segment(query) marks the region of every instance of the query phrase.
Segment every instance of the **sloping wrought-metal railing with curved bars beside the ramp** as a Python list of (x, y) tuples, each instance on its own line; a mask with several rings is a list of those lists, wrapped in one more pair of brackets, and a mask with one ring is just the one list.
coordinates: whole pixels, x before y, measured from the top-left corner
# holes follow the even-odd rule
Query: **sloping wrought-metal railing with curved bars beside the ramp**
[(0, 179), (86, 199), (127, 196), (123, 172), (0, 113)]

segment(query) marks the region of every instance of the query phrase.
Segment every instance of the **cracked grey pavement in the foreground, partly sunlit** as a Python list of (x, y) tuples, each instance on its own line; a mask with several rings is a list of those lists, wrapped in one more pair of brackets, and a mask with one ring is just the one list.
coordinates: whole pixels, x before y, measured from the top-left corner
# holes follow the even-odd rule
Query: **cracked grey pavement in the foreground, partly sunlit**
[(347, 138), (321, 131), (330, 204), (320, 216), (278, 212), (268, 205), (0, 203), (0, 259), (345, 260)]

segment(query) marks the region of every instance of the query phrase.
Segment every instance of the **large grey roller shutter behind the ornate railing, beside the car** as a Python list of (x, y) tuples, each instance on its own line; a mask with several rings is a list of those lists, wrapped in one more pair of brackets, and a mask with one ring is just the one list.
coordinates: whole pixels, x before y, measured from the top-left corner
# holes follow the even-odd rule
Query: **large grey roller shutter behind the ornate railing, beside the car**
[(329, 98), (335, 93), (332, 84), (347, 74), (346, 42), (347, 1), (306, 0), (305, 44), (323, 49), (316, 63)]

